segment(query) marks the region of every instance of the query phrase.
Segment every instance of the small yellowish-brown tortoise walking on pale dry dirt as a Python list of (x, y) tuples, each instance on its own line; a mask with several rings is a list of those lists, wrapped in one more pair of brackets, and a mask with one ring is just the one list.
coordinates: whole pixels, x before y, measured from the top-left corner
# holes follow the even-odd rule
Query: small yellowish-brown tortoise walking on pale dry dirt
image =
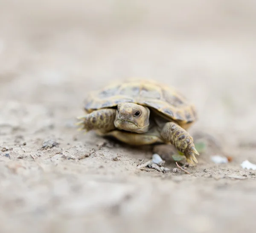
[(174, 87), (153, 80), (116, 82), (88, 94), (78, 117), (81, 130), (95, 130), (130, 145), (172, 144), (198, 162), (193, 138), (186, 131), (196, 120), (195, 106)]

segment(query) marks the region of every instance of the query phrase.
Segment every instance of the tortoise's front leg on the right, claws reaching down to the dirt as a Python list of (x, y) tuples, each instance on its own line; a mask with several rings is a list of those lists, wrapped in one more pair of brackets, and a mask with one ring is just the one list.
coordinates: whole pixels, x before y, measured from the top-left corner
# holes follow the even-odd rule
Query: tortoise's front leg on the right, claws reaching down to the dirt
[(194, 164), (193, 160), (198, 162), (195, 154), (199, 155), (199, 153), (195, 149), (194, 140), (180, 125), (175, 122), (167, 122), (161, 131), (161, 136), (165, 142), (170, 142), (178, 151), (184, 153), (189, 163)]

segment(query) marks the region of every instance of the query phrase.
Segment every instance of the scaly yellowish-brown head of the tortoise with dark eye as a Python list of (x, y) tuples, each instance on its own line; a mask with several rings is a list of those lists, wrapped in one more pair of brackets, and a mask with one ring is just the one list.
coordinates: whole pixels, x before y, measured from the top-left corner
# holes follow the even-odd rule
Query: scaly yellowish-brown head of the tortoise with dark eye
[(114, 124), (120, 130), (142, 134), (148, 131), (149, 114), (149, 109), (142, 105), (119, 103)]

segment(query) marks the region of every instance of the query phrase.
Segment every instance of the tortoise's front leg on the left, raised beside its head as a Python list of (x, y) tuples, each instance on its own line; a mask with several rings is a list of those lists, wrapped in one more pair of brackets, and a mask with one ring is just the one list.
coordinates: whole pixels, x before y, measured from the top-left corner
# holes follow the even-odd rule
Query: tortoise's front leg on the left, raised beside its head
[(108, 132), (115, 129), (115, 118), (116, 109), (103, 108), (78, 117), (81, 121), (77, 125), (82, 125), (80, 129), (85, 131), (100, 130), (102, 132)]

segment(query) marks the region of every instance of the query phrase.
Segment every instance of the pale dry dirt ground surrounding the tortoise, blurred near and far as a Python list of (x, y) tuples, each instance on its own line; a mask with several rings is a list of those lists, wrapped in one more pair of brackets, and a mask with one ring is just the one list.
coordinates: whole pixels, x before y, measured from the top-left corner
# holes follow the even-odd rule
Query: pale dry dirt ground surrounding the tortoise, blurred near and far
[[(1, 0), (0, 233), (254, 233), (255, 41), (253, 0)], [(195, 103), (190, 174), (77, 131), (87, 92), (128, 77)]]

